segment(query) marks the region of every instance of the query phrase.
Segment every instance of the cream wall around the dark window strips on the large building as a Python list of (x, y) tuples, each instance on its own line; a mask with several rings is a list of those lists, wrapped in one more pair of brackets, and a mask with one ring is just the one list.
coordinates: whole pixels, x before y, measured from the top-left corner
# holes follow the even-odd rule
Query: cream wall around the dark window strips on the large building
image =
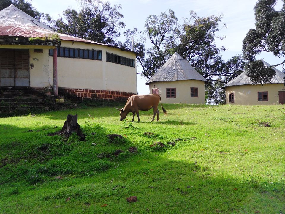
[[(62, 41), (61, 47), (102, 50), (102, 60), (58, 57), (58, 87), (137, 93), (136, 68), (106, 62), (106, 52), (130, 59), (136, 58), (134, 53), (107, 45), (71, 41)], [(52, 57), (49, 57), (49, 67), (52, 73)]]

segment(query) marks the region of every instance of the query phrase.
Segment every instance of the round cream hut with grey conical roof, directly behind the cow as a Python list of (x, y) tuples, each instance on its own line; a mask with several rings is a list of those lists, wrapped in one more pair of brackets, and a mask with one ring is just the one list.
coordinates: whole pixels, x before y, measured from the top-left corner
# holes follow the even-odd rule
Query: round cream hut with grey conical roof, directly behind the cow
[(145, 83), (163, 103), (205, 103), (208, 82), (177, 52)]

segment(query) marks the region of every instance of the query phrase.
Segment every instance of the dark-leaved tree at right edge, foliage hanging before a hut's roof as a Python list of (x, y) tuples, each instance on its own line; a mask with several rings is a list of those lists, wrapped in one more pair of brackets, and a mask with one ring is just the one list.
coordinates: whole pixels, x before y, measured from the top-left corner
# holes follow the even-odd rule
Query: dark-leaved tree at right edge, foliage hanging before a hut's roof
[[(250, 29), (243, 40), (243, 57), (248, 60), (247, 75), (255, 84), (270, 83), (276, 74), (272, 67), (285, 63), (285, 1), (280, 11), (274, 9), (277, 0), (259, 0), (254, 7), (255, 29)], [(255, 57), (261, 52), (271, 52), (280, 63), (265, 67)], [(284, 79), (285, 81), (285, 79)]]

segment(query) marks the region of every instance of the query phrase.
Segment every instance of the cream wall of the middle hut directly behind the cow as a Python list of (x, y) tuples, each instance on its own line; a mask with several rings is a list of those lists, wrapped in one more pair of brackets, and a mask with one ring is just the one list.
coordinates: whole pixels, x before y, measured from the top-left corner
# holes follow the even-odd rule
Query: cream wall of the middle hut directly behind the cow
[[(190, 88), (198, 88), (198, 97), (190, 97)], [(150, 94), (152, 89), (158, 88), (162, 103), (188, 103), (205, 104), (205, 83), (200, 80), (179, 80), (170, 82), (152, 82), (149, 85)], [(166, 98), (166, 88), (176, 88), (176, 98)]]

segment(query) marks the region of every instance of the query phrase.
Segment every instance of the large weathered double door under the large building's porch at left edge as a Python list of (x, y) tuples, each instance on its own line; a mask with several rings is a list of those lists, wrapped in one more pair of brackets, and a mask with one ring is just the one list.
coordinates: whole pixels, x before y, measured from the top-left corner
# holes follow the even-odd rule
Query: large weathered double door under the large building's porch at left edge
[(30, 86), (29, 50), (0, 49), (0, 86)]

